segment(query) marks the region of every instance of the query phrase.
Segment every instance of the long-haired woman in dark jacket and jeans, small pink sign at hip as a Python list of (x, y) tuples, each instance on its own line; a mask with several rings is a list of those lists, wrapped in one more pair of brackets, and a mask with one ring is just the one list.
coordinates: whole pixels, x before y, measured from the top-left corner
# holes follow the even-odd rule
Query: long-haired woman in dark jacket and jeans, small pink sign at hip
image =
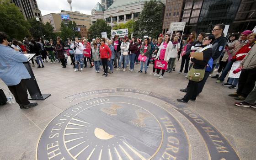
[(145, 62), (140, 61), (140, 70), (138, 71), (138, 73), (142, 73), (142, 69), (143, 69), (143, 65), (144, 65), (145, 74), (147, 74), (147, 63), (149, 60), (149, 54), (151, 52), (151, 45), (149, 42), (149, 37), (144, 39), (144, 44), (140, 48), (139, 52), (142, 56), (147, 56), (147, 59), (145, 60)]

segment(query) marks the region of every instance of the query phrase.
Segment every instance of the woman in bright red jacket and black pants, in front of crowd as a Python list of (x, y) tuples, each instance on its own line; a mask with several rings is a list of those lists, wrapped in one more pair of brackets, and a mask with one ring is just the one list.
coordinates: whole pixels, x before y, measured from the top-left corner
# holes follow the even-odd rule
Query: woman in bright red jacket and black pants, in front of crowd
[(108, 47), (108, 45), (106, 44), (105, 38), (101, 38), (100, 42), (101, 42), (100, 57), (101, 57), (101, 62), (102, 62), (103, 69), (104, 69), (104, 74), (102, 76), (107, 77), (107, 69), (108, 69), (107, 61), (110, 61), (112, 52), (111, 52), (110, 48)]

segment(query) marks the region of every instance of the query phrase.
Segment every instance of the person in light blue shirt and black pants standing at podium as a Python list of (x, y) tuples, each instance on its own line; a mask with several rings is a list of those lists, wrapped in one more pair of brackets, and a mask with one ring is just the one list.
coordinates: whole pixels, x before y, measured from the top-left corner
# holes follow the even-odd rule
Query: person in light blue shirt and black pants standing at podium
[(28, 101), (26, 79), (31, 78), (23, 62), (27, 56), (8, 46), (7, 35), (0, 32), (0, 78), (8, 86), (20, 108), (37, 106)]

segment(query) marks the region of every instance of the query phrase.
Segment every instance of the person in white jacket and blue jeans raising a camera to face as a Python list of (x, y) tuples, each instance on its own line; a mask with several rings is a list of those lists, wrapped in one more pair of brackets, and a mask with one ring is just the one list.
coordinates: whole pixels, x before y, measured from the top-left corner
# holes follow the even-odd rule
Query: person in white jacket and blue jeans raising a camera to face
[(75, 42), (71, 45), (71, 48), (75, 51), (75, 72), (79, 71), (78, 64), (80, 63), (81, 71), (83, 71), (84, 65), (84, 46), (79, 42), (78, 37), (75, 37)]

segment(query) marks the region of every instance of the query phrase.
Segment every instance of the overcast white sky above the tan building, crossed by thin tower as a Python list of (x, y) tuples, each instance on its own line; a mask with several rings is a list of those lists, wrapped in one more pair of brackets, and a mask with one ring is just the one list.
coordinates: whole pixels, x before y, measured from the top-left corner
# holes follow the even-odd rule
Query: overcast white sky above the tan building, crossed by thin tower
[[(101, 3), (101, 0), (72, 0), (72, 10), (91, 15), (91, 10), (97, 2)], [(70, 11), (67, 0), (37, 0), (37, 5), (42, 16), (49, 13), (59, 13), (61, 10)]]

